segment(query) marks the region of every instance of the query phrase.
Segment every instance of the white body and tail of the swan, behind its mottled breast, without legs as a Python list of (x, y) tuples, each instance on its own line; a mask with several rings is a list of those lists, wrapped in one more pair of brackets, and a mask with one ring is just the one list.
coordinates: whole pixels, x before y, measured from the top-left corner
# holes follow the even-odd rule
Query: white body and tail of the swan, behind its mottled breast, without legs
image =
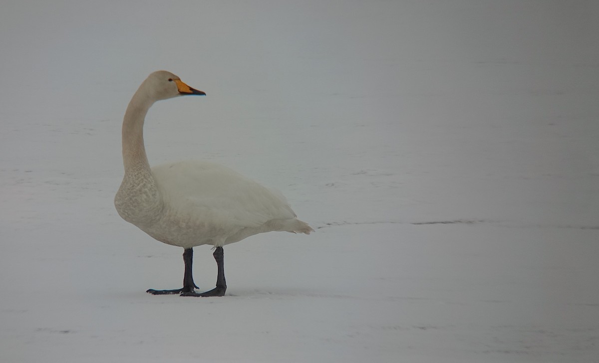
[(148, 233), (190, 248), (223, 246), (268, 231), (310, 232), (280, 193), (219, 164), (183, 161), (152, 168), (165, 200)]

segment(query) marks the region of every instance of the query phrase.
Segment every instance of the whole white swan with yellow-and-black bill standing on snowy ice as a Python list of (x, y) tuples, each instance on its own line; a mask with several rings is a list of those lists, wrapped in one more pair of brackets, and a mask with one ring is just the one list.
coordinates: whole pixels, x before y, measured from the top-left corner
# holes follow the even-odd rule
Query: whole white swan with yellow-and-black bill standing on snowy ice
[[(223, 246), (254, 234), (314, 230), (297, 219), (285, 197), (228, 167), (206, 161), (181, 161), (150, 168), (143, 126), (158, 100), (205, 95), (167, 71), (150, 74), (133, 95), (123, 118), (125, 176), (114, 206), (125, 221), (160, 242), (183, 248), (183, 288), (149, 289), (154, 295), (223, 296), (226, 291)], [(193, 283), (193, 247), (214, 246), (216, 288), (197, 293)]]

